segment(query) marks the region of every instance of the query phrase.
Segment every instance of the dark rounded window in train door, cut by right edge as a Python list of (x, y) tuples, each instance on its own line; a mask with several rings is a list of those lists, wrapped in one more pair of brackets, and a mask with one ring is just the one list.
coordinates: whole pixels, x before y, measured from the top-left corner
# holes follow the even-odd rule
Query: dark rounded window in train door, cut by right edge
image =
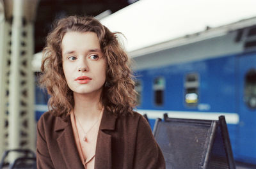
[(244, 102), (252, 109), (256, 108), (256, 70), (252, 69), (245, 75)]

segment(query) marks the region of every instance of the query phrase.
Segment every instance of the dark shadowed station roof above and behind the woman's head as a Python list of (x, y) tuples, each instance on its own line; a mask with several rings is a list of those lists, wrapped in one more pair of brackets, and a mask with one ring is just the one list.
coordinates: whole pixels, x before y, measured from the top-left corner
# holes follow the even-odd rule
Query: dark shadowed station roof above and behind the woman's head
[(40, 0), (35, 20), (35, 52), (45, 45), (52, 22), (67, 15), (97, 16), (104, 11), (116, 11), (138, 0)]

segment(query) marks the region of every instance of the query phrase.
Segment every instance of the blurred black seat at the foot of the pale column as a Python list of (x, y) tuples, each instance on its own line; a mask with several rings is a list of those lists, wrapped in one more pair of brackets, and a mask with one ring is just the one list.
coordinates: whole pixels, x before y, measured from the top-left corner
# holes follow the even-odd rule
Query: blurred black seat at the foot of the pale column
[[(12, 164), (6, 163), (5, 159), (10, 152), (18, 152), (19, 158), (15, 159)], [(12, 149), (4, 152), (0, 163), (0, 169), (9, 166), (10, 169), (36, 169), (36, 155), (29, 149)]]

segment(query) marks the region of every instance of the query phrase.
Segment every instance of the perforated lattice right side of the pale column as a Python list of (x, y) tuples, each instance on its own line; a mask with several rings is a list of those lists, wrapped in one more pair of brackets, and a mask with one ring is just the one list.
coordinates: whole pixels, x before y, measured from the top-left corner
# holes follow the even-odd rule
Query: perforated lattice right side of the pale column
[(36, 121), (35, 121), (35, 78), (32, 71), (33, 59), (33, 25), (27, 23), (22, 29), (21, 64), (20, 64), (20, 146), (35, 151), (36, 146)]

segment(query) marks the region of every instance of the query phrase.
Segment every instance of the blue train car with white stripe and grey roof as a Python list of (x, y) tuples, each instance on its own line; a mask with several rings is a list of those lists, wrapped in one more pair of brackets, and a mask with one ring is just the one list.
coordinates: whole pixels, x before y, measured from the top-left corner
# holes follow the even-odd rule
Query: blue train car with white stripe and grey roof
[(139, 93), (137, 111), (148, 115), (152, 128), (164, 113), (189, 119), (225, 115), (234, 158), (256, 164), (256, 27), (252, 20), (251, 25), (243, 20), (131, 53)]

